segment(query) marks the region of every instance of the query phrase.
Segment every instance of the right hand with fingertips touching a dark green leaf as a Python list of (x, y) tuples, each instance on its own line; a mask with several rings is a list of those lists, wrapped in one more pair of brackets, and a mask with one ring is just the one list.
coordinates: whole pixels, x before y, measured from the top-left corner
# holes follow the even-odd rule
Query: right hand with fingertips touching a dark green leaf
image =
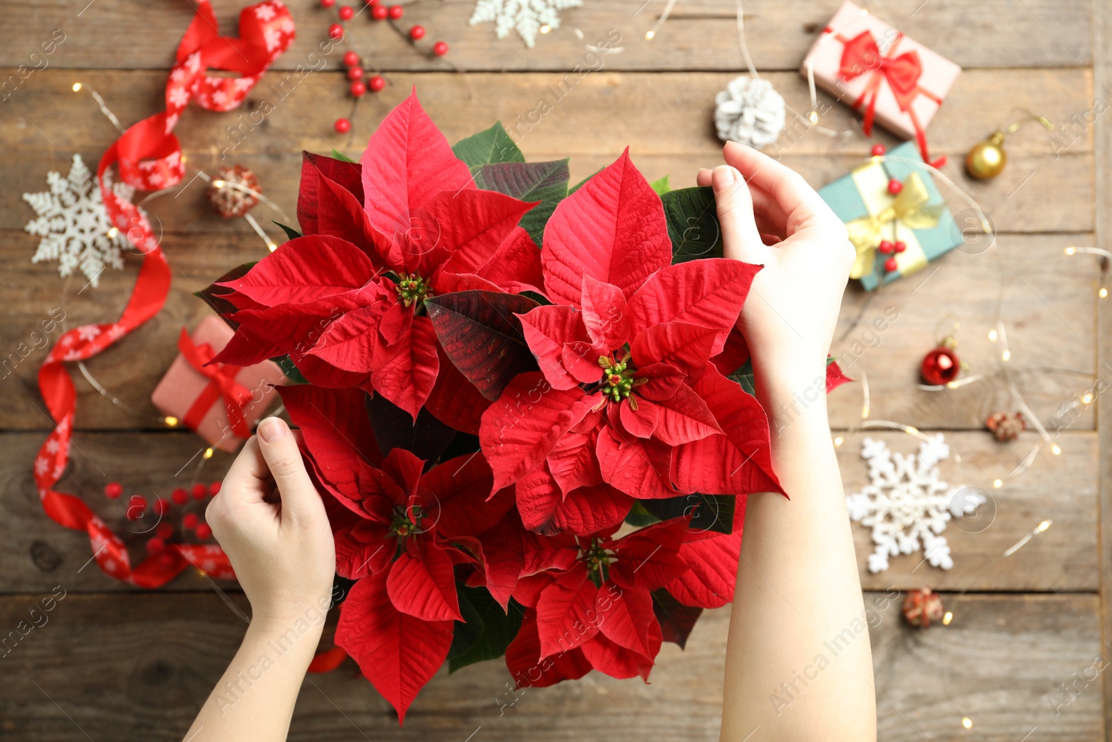
[(765, 266), (738, 327), (758, 382), (791, 398), (824, 376), (854, 249), (797, 172), (736, 142), (723, 155), (726, 165), (701, 170), (697, 181), (714, 188), (725, 256)]

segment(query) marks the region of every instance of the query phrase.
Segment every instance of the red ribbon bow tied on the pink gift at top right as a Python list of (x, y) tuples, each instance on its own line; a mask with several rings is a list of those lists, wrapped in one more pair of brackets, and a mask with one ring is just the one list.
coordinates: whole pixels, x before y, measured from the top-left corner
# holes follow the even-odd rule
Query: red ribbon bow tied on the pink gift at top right
[(872, 72), (865, 90), (853, 102), (853, 108), (855, 109), (861, 109), (864, 106), (862, 129), (865, 136), (867, 137), (873, 132), (876, 96), (880, 92), (881, 85), (887, 82), (892, 95), (895, 96), (896, 103), (900, 106), (900, 110), (911, 118), (912, 126), (915, 127), (915, 140), (919, 142), (919, 150), (923, 156), (923, 161), (930, 162), (931, 166), (936, 168), (945, 165), (945, 156), (931, 162), (931, 156), (926, 149), (926, 131), (923, 130), (919, 121), (919, 116), (916, 116), (915, 109), (912, 106), (919, 96), (925, 96), (940, 106), (942, 105), (941, 98), (919, 85), (919, 78), (923, 73), (923, 63), (919, 59), (919, 52), (912, 49), (911, 51), (895, 56), (896, 47), (900, 46), (900, 40), (903, 38), (902, 33), (896, 34), (895, 41), (888, 47), (887, 55), (881, 53), (880, 47), (876, 46), (876, 39), (873, 38), (873, 34), (868, 30), (862, 31), (852, 39), (845, 39), (840, 34), (835, 36), (844, 44), (842, 49), (842, 66), (838, 70), (842, 79), (850, 81), (866, 72)]

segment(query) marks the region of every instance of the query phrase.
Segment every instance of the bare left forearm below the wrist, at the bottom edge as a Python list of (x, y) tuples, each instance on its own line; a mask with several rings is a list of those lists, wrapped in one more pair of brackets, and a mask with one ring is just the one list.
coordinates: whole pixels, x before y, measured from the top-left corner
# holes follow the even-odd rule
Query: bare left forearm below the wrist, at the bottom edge
[(185, 739), (285, 740), (320, 631), (304, 619), (286, 627), (252, 623)]

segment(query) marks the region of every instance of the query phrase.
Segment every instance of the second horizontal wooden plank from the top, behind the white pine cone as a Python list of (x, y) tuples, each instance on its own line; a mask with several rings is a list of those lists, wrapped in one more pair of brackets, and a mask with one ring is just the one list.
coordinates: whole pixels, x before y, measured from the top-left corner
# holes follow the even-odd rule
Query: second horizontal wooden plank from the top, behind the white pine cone
[[(160, 73), (98, 71), (82, 72), (80, 77), (86, 85), (108, 95), (109, 106), (122, 121), (139, 120), (161, 107)], [(647, 177), (669, 175), (674, 187), (694, 185), (698, 167), (721, 161), (721, 142), (711, 123), (713, 100), (731, 76), (599, 72), (585, 77), (556, 100), (553, 91), (560, 85), (560, 77), (553, 73), (399, 73), (391, 78), (394, 85), (386, 91), (365, 99), (347, 137), (331, 129), (336, 116), (349, 111), (338, 75), (310, 76), (300, 83), (295, 79), (281, 100), (281, 86), (287, 85), (284, 77), (269, 73), (238, 111), (220, 115), (191, 107), (182, 116), (177, 133), (193, 167), (215, 174), (220, 165), (242, 162), (258, 174), (265, 192), (289, 215), (294, 212), (300, 172), (298, 152), (328, 152), (336, 147), (358, 157), (381, 117), (408, 95), (414, 83), (449, 141), (500, 119), (530, 159), (570, 157), (573, 179), (590, 175), (629, 146)], [(117, 137), (87, 96), (76, 98), (70, 91), (73, 79), (67, 70), (48, 69), (29, 79), (9, 100), (18, 118), (17, 126), (0, 130), (0, 146), (10, 154), (0, 166), (0, 228), (23, 227), (31, 211), (21, 201), (21, 194), (42, 190), (48, 168), (64, 172), (75, 152), (92, 165)], [(793, 105), (806, 109), (804, 80), (787, 72), (771, 75), (770, 79)], [(127, 90), (128, 95), (109, 92), (118, 90)], [(662, 90), (667, 91), (664, 97)], [(545, 116), (538, 112), (543, 96), (555, 103)], [(76, 105), (82, 116), (73, 116)], [(1009, 139), (1011, 164), (999, 179), (971, 185), (961, 175), (965, 151), (994, 128), (1006, 125), (1007, 111), (1017, 105), (1044, 111), (1056, 121), (1083, 116), (1093, 107), (1089, 72), (971, 71), (931, 128), (932, 151), (950, 156), (953, 161), (945, 172), (964, 184), (1004, 231), (1091, 229), (1092, 211), (1081, 206), (1092, 202), (1088, 129), (1081, 128), (1072, 137), (1055, 135), (1058, 139), (1052, 140), (1039, 127), (1029, 127)], [(778, 146), (768, 148), (816, 186), (843, 176), (870, 147), (843, 107), (833, 108), (823, 121), (854, 133), (844, 140), (831, 140), (793, 128), (785, 130)], [(890, 135), (878, 135), (895, 144)], [(165, 230), (249, 230), (242, 220), (229, 224), (212, 215), (201, 196), (201, 186), (197, 180), (180, 197), (150, 204)], [(272, 216), (266, 209), (260, 212), (264, 220)]]

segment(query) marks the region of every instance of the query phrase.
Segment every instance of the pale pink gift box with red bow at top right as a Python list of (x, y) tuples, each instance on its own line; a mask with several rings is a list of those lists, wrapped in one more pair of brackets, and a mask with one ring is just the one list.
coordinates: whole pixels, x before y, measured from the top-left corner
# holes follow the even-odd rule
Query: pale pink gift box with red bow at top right
[(930, 162), (926, 128), (962, 68), (846, 0), (803, 59), (800, 72), (864, 117), (914, 139)]

